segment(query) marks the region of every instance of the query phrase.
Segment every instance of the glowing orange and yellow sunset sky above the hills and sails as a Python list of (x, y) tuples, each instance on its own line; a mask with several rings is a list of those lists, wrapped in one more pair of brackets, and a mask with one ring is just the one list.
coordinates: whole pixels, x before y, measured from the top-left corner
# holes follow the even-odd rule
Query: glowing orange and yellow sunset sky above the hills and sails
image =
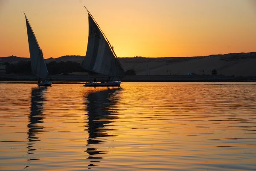
[(256, 0), (0, 0), (0, 57), (85, 55), (89, 9), (119, 57), (256, 51)]

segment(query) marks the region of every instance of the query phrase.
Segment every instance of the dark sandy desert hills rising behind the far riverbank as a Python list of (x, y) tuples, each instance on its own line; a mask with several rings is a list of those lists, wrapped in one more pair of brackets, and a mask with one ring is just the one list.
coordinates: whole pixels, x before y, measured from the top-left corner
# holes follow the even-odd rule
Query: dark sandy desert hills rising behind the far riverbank
[[(73, 61), (82, 63), (84, 56), (61, 56), (48, 58), (46, 62)], [(2, 57), (0, 62), (17, 62), (29, 60), (15, 56)], [(135, 70), (137, 75), (211, 75), (217, 70), (218, 75), (256, 76), (256, 52), (230, 53), (224, 55), (209, 55), (199, 57), (170, 58), (119, 58), (124, 70)]]

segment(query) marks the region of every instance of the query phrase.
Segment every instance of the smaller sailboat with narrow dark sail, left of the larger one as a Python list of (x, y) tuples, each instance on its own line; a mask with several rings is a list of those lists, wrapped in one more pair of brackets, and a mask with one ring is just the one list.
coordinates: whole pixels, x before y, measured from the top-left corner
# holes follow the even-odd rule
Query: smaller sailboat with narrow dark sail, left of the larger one
[[(25, 12), (23, 12), (25, 14)], [(46, 77), (49, 74), (43, 56), (43, 50), (40, 49), (38, 41), (35, 38), (35, 34), (30, 26), (29, 20), (26, 17), (26, 27), (29, 40), (29, 53), (31, 61), (32, 73), (39, 77), (38, 86), (51, 86), (52, 81), (47, 81)], [(40, 81), (40, 78), (43, 81)]]

